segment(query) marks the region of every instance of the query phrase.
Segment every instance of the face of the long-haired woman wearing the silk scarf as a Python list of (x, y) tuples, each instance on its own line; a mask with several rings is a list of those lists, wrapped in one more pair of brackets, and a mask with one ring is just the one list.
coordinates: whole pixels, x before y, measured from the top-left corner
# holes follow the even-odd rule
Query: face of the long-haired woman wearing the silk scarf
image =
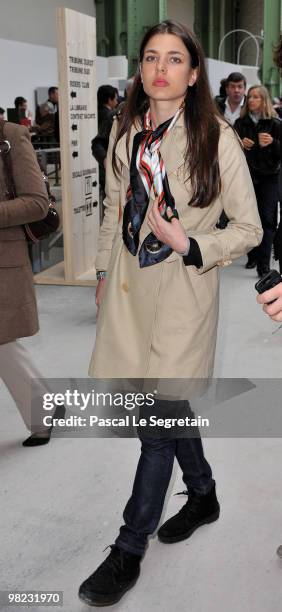
[(182, 101), (188, 85), (194, 85), (197, 79), (190, 53), (174, 34), (155, 34), (150, 38), (140, 70), (145, 93), (156, 101)]

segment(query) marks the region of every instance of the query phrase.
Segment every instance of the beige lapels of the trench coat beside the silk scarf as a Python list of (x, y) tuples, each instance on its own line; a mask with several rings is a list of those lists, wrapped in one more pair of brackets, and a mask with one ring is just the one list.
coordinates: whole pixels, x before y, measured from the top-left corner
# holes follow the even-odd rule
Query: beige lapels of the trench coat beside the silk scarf
[[(133, 139), (135, 134), (139, 132), (141, 126), (133, 125), (129, 140), (129, 153), (132, 151)], [(180, 115), (174, 128), (165, 136), (160, 147), (161, 155), (164, 160), (167, 175), (184, 164), (184, 156), (187, 145), (186, 127), (184, 125), (183, 113)], [(129, 162), (126, 152), (126, 134), (119, 140), (116, 148), (117, 157), (120, 161), (129, 168)]]

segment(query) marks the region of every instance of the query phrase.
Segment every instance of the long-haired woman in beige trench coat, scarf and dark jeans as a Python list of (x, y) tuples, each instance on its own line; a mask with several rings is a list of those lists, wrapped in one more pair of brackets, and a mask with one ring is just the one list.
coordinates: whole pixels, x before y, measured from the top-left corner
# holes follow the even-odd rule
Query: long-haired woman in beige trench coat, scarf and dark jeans
[[(104, 204), (90, 375), (208, 378), (219, 269), (259, 244), (262, 230), (244, 153), (214, 108), (199, 42), (177, 22), (158, 24), (143, 39), (129, 100), (110, 137)], [(230, 221), (219, 230), (223, 209)], [(141, 456), (124, 525), (79, 590), (91, 605), (113, 604), (135, 584), (175, 457), (188, 501), (159, 529), (160, 541), (184, 540), (219, 516), (199, 435), (152, 438), (140, 428), (138, 435)]]

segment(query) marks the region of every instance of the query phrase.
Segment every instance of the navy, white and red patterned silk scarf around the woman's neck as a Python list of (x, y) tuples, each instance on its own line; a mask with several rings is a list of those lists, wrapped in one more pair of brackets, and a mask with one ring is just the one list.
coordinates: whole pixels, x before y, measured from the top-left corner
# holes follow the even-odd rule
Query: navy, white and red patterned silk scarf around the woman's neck
[[(169, 189), (160, 146), (163, 138), (173, 128), (182, 110), (183, 105), (172, 119), (168, 119), (153, 130), (149, 109), (144, 116), (143, 130), (134, 136), (130, 164), (130, 184), (126, 193), (123, 213), (123, 241), (132, 255), (136, 255), (138, 251), (140, 228), (146, 216), (152, 186), (155, 198), (158, 198), (158, 208), (162, 217), (166, 218), (168, 206), (175, 210), (175, 202)], [(171, 253), (171, 247), (160, 242), (151, 232), (146, 236), (140, 247), (140, 268), (159, 263)]]

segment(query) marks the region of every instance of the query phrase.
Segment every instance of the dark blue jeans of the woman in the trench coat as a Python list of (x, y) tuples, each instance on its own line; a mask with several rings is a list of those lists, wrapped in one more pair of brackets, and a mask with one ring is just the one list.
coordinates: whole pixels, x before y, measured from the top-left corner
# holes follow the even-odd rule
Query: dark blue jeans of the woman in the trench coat
[[(140, 436), (140, 434), (139, 434)], [(201, 438), (141, 439), (141, 456), (137, 466), (133, 491), (128, 500), (116, 545), (127, 552), (143, 555), (148, 536), (158, 526), (174, 457), (182, 472), (188, 491), (205, 495), (214, 485), (211, 468), (204, 457)]]

